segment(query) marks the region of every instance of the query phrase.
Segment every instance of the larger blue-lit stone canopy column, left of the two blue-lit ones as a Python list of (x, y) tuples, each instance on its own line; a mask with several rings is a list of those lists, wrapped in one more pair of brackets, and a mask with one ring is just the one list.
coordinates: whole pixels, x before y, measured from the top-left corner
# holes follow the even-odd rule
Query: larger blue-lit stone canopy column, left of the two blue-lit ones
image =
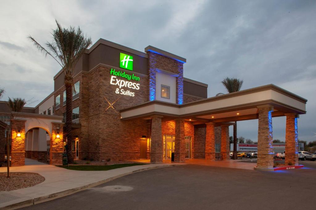
[(258, 106), (258, 168), (273, 168), (273, 134), (272, 115), (273, 106)]

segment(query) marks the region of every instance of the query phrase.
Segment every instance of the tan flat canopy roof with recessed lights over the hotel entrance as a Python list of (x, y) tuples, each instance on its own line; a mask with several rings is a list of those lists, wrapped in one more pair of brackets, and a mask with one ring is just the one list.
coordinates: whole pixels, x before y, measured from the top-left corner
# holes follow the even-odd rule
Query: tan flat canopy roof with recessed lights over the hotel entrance
[(186, 118), (204, 123), (232, 122), (258, 118), (257, 106), (260, 105), (272, 105), (273, 117), (286, 113), (305, 114), (306, 102), (307, 99), (270, 84), (183, 105), (149, 101), (122, 109), (120, 113), (121, 120), (146, 119), (158, 114), (170, 119)]

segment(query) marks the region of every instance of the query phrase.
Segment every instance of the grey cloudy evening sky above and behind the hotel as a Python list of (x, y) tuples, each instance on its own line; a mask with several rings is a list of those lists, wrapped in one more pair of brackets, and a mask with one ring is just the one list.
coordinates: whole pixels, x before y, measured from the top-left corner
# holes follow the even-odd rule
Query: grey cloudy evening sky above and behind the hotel
[[(308, 99), (299, 139), (316, 140), (315, 1), (2, 1), (2, 100), (36, 106), (53, 91), (60, 68), (26, 37), (51, 40), (55, 19), (80, 26), (93, 42), (152, 45), (186, 58), (184, 76), (209, 84), (209, 97), (226, 93), (227, 76), (243, 79), (242, 89), (272, 83), (298, 94)], [(257, 129), (258, 120), (238, 122), (238, 136), (257, 141)], [(285, 117), (273, 118), (273, 135), (285, 139)]]

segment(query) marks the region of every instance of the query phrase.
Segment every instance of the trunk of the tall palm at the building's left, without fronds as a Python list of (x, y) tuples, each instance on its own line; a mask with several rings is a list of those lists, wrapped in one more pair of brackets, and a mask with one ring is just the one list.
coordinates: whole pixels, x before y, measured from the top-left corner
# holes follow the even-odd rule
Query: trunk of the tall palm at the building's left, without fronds
[[(70, 81), (71, 80), (71, 81)], [(71, 142), (72, 142), (72, 78), (66, 79), (65, 77), (65, 86), (66, 86), (66, 138), (67, 138), (67, 156), (68, 162), (72, 163), (74, 157), (71, 151)]]

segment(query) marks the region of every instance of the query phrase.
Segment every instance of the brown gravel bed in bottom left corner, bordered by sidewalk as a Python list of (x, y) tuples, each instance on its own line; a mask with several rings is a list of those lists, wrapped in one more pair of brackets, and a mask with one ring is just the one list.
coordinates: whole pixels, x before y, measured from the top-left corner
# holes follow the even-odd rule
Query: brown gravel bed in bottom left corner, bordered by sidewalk
[(0, 191), (11, 191), (26, 187), (32, 187), (45, 181), (45, 178), (38, 173), (10, 173), (7, 178), (7, 172), (0, 173)]

